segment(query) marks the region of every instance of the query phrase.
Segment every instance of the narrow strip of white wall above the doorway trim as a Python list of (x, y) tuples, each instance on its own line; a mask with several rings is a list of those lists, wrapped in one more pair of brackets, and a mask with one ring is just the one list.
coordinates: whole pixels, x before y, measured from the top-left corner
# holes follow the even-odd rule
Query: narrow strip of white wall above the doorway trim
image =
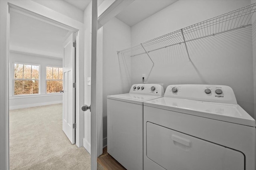
[(75, 6), (72, 6), (64, 0), (33, 0), (34, 2), (46, 6), (56, 12), (64, 14), (79, 22), (84, 21), (84, 12)]

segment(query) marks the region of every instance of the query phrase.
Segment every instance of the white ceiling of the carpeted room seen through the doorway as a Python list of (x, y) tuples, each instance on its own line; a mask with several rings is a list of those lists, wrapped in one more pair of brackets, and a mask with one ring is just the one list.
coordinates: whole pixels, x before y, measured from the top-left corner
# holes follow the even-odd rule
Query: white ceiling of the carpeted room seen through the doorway
[(10, 51), (62, 58), (62, 43), (69, 34), (68, 30), (10, 11)]

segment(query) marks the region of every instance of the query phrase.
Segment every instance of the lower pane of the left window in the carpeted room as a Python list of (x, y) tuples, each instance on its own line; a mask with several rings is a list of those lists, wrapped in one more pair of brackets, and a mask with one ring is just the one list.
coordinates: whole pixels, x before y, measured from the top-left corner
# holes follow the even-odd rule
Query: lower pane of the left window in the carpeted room
[(38, 94), (38, 80), (15, 80), (14, 95)]

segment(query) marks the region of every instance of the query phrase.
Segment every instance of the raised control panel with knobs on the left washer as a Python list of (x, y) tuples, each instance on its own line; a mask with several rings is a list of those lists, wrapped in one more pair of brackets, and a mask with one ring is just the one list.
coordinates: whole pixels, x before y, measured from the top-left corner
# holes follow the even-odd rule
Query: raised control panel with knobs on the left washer
[(159, 84), (134, 84), (129, 93), (163, 96), (164, 88)]

